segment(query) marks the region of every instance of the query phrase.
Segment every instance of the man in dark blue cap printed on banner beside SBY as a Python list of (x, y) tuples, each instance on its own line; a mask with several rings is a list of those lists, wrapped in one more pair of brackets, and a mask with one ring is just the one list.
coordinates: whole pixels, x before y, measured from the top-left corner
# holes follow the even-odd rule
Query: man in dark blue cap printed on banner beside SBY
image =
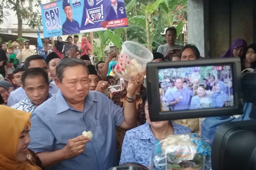
[(72, 7), (69, 0), (63, 0), (63, 10), (67, 16), (66, 21), (62, 25), (62, 35), (80, 33), (79, 23), (73, 19)]

